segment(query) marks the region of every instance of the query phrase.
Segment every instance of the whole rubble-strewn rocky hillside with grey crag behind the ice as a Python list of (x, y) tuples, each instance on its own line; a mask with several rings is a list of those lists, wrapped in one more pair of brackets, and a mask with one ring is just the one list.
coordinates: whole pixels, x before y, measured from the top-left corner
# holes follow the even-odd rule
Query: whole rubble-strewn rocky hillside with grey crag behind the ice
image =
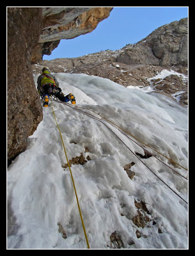
[[(84, 73), (108, 78), (123, 86), (150, 86), (155, 92), (176, 100), (172, 95), (183, 92), (179, 103), (187, 104), (187, 79), (169, 76), (162, 81), (151, 81), (163, 69), (187, 76), (187, 18), (162, 26), (135, 45), (120, 50), (106, 50), (78, 58), (59, 58), (33, 65), (33, 72), (40, 73), (42, 66), (52, 72)], [(178, 98), (177, 98), (178, 99)]]

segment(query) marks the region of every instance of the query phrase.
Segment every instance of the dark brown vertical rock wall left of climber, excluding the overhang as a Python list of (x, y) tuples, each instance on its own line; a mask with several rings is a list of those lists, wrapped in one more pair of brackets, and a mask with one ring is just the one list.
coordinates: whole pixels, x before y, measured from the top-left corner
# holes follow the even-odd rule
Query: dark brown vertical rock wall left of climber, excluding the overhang
[(42, 107), (31, 69), (31, 49), (42, 31), (39, 8), (8, 8), (8, 160), (26, 147), (42, 120)]

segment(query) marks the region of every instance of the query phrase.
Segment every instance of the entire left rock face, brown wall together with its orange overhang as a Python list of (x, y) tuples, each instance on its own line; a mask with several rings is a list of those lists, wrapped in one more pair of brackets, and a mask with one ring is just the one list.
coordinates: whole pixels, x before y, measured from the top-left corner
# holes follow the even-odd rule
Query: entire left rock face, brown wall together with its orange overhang
[(8, 163), (26, 148), (43, 117), (31, 63), (51, 54), (61, 38), (91, 32), (112, 9), (8, 8)]

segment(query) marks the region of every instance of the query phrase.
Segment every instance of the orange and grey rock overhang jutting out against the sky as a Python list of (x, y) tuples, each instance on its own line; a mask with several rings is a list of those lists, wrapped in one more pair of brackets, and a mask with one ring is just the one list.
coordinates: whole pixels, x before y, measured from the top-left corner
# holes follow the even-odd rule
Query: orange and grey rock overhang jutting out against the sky
[(32, 54), (32, 63), (50, 55), (61, 39), (71, 39), (90, 33), (98, 23), (107, 18), (113, 8), (42, 8), (43, 30)]

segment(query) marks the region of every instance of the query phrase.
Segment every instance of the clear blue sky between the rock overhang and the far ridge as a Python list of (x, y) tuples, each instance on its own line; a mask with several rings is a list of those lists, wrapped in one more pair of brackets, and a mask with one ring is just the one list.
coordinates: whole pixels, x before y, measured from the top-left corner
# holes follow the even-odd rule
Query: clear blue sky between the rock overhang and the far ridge
[(137, 43), (160, 26), (185, 17), (188, 17), (187, 7), (114, 7), (109, 17), (91, 33), (61, 40), (52, 54), (44, 55), (43, 60), (118, 50), (126, 44)]

